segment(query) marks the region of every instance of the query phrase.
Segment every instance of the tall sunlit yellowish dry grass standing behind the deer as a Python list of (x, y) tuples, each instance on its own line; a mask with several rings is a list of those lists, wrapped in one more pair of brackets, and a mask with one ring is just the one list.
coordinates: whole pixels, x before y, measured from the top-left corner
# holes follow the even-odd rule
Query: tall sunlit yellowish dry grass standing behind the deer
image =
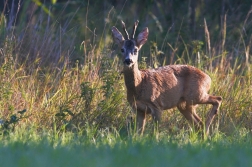
[[(37, 11), (36, 15), (31, 13), (36, 21), (24, 21), (21, 30), (15, 25), (10, 28), (1, 15), (1, 120), (11, 122), (13, 115), (19, 117), (18, 111), (25, 110), (24, 118), (12, 122), (15, 127), (29, 129), (32, 126), (38, 131), (47, 129), (57, 133), (90, 129), (86, 133), (93, 137), (103, 130), (116, 130), (127, 135), (131, 109), (126, 100), (120, 56), (117, 57), (114, 51), (111, 37), (103, 35), (99, 38), (95, 30), (86, 27), (89, 31), (86, 38), (89, 39), (76, 44), (78, 33), (75, 30), (78, 32), (79, 28), (69, 27), (71, 18), (59, 24), (42, 9)], [(117, 19), (111, 18), (115, 17), (112, 11), (110, 9), (106, 16), (110, 22), (105, 24), (103, 34), (108, 34), (108, 27)], [(251, 63), (249, 58), (244, 63), (240, 57), (232, 56), (246, 53), (249, 57), (250, 43), (243, 40), (244, 34), (241, 33), (238, 44), (234, 43), (233, 50), (228, 51), (229, 57), (235, 59), (230, 61), (225, 50), (226, 20), (223, 21), (222, 51), (219, 54), (219, 48), (211, 41), (206, 21), (206, 44), (197, 40), (185, 43), (179, 31), (178, 42), (169, 46), (173, 47), (174, 64), (192, 64), (211, 76), (211, 94), (224, 99), (212, 126), (212, 134), (232, 136), (239, 130), (248, 132), (252, 128)], [(184, 47), (180, 49), (182, 54), (178, 55), (176, 50), (181, 48), (181, 41)], [(240, 51), (240, 43), (244, 45), (243, 51)], [(239, 53), (236, 53), (237, 49)], [(149, 50), (147, 56), (150, 57), (146, 59), (143, 55), (142, 61), (139, 60), (142, 68), (167, 64), (168, 57), (158, 49), (156, 42), (150, 44)], [(209, 109), (209, 106), (201, 106), (198, 113), (204, 118)], [(160, 132), (175, 135), (184, 130), (190, 134), (188, 123), (176, 109), (164, 112), (162, 120)]]

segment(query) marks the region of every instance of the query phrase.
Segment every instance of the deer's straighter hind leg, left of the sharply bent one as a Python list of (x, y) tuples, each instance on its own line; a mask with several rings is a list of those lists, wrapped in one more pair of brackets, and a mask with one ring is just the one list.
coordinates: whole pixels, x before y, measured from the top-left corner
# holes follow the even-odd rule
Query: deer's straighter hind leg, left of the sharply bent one
[(185, 118), (189, 121), (191, 126), (193, 126), (197, 132), (202, 129), (203, 122), (196, 113), (197, 105), (192, 105), (187, 103), (186, 101), (181, 101), (177, 105), (177, 108), (185, 116)]

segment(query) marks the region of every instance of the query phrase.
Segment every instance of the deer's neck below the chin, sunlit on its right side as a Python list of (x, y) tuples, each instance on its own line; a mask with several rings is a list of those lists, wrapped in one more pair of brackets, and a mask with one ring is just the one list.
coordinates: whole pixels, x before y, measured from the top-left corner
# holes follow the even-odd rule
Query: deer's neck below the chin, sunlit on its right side
[(134, 91), (134, 93), (136, 93), (137, 87), (142, 82), (141, 71), (138, 69), (138, 64), (134, 64), (131, 69), (125, 67), (123, 73), (128, 92)]

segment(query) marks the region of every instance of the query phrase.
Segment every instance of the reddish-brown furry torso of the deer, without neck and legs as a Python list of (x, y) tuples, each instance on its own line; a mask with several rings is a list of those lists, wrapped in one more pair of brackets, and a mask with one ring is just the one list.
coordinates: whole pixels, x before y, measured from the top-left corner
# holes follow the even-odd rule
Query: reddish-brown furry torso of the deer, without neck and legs
[(168, 65), (141, 70), (139, 100), (159, 109), (175, 107), (183, 99), (198, 101), (210, 88), (211, 79), (199, 69), (187, 65)]

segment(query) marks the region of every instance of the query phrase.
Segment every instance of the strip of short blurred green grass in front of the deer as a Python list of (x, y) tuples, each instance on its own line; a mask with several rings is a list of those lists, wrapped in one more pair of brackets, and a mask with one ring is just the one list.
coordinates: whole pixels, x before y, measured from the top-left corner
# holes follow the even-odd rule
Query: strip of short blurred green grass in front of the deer
[[(178, 137), (178, 136), (177, 136)], [(75, 134), (10, 134), (0, 143), (3, 167), (44, 166), (251, 166), (252, 138), (206, 141), (163, 136), (153, 139), (106, 135), (97, 141)]]

